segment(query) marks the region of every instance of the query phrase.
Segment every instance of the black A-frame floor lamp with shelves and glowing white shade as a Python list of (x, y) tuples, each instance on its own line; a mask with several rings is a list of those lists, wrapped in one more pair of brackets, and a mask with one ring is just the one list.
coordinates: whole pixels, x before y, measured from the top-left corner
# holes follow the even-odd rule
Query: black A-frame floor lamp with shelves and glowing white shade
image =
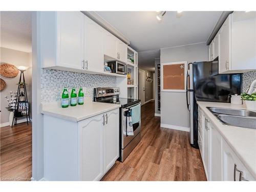
[[(18, 81), (18, 91), (16, 94), (16, 102), (14, 107), (14, 116), (12, 118), (12, 126), (14, 123), (17, 124), (17, 117), (23, 117), (26, 115), (27, 124), (30, 122), (30, 115), (29, 115), (29, 102), (27, 96), (27, 89), (26, 89), (26, 82), (24, 77), (24, 71), (26, 71), (29, 67), (26, 66), (18, 66), (18, 70), (20, 71), (20, 77)], [(23, 91), (20, 91), (23, 89)]]

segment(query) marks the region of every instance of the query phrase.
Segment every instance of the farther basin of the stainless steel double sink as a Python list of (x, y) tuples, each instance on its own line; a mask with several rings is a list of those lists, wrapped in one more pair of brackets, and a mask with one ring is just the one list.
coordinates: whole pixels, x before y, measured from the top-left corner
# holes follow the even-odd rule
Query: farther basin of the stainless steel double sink
[(238, 109), (226, 109), (226, 108), (208, 108), (213, 113), (225, 114), (225, 115), (235, 115), (242, 117), (256, 117), (256, 113), (248, 110), (238, 110)]

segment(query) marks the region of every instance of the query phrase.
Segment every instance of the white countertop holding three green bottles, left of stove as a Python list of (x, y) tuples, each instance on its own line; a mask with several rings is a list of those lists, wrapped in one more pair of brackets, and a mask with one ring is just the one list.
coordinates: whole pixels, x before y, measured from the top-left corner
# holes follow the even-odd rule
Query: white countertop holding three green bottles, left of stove
[(95, 115), (99, 115), (117, 108), (120, 104), (103, 103), (103, 102), (85, 102), (83, 105), (69, 106), (61, 108), (60, 103), (42, 103), (41, 113), (60, 119), (78, 122)]

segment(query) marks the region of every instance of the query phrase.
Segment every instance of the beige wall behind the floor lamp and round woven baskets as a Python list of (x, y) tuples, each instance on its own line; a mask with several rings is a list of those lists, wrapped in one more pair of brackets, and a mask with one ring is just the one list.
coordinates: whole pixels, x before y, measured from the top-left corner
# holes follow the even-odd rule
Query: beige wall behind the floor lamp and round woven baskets
[[(32, 66), (31, 62), (31, 53), (17, 51), (13, 49), (7, 49), (1, 47), (1, 63), (6, 62), (10, 63), (14, 66)], [(24, 72), (26, 87), (27, 87), (27, 94), (28, 94), (28, 101), (30, 104), (30, 115), (32, 114), (32, 68), (29, 68), (27, 71)], [(10, 98), (10, 91), (17, 91), (17, 83), (19, 80), (20, 72), (14, 78), (7, 78), (1, 75), (1, 78), (4, 79), (6, 82), (6, 88), (0, 92), (1, 94), (1, 123), (9, 122), (9, 114), (10, 112), (5, 109), (8, 106), (7, 100), (5, 96)], [(32, 116), (30, 116), (32, 117)]]

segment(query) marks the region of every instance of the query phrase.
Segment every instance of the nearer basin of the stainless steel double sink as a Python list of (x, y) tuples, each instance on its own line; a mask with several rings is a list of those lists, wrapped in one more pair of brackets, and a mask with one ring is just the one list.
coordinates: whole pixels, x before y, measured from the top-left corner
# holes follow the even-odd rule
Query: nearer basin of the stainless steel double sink
[(256, 118), (255, 117), (242, 117), (233, 115), (217, 115), (218, 119), (224, 124), (232, 126), (246, 127), (250, 129), (256, 129)]

